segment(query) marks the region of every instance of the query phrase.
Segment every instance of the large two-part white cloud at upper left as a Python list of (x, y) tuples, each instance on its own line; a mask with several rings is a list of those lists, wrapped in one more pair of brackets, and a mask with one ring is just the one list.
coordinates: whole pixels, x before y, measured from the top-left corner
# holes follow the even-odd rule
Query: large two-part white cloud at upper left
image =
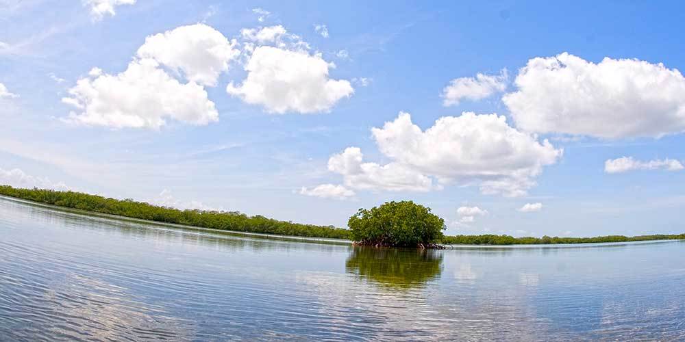
[[(236, 42), (204, 24), (149, 36), (123, 73), (92, 68), (62, 102), (72, 105), (67, 122), (114, 128), (159, 129), (167, 119), (189, 124), (219, 120), (203, 86), (214, 86), (238, 55)], [(188, 80), (182, 83), (164, 67)]]

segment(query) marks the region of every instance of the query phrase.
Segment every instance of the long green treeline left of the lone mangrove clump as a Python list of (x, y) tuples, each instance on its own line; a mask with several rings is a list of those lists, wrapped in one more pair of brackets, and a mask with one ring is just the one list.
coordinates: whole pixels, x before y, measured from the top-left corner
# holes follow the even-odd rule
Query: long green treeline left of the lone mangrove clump
[(237, 211), (179, 210), (131, 199), (116, 200), (79, 192), (58, 192), (45, 189), (16, 189), (8, 185), (0, 185), (0, 194), (60, 207), (203, 228), (301, 237), (350, 238), (349, 231), (343, 228), (284, 222), (261, 215), (250, 217)]

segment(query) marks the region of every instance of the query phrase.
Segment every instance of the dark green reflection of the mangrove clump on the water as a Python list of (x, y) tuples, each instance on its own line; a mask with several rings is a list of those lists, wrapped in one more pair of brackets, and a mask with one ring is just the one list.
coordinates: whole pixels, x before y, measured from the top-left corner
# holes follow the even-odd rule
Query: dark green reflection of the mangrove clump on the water
[(388, 287), (417, 287), (440, 277), (443, 254), (436, 250), (356, 247), (347, 272)]

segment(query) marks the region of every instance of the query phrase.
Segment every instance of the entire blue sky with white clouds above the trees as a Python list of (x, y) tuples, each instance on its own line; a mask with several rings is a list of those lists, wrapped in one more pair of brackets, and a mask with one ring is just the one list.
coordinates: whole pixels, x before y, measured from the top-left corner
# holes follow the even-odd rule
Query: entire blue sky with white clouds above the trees
[[(592, 10), (587, 10), (592, 8)], [(0, 0), (0, 183), (448, 234), (682, 233), (680, 1)]]

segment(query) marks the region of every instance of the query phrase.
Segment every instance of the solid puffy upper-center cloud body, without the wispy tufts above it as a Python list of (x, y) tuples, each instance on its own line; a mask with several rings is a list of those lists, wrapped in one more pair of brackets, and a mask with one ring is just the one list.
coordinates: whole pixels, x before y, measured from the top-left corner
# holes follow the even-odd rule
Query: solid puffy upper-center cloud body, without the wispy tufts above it
[(354, 92), (349, 81), (329, 78), (331, 67), (321, 54), (261, 46), (245, 66), (247, 78), (239, 86), (229, 83), (226, 92), (271, 113), (329, 111)]

